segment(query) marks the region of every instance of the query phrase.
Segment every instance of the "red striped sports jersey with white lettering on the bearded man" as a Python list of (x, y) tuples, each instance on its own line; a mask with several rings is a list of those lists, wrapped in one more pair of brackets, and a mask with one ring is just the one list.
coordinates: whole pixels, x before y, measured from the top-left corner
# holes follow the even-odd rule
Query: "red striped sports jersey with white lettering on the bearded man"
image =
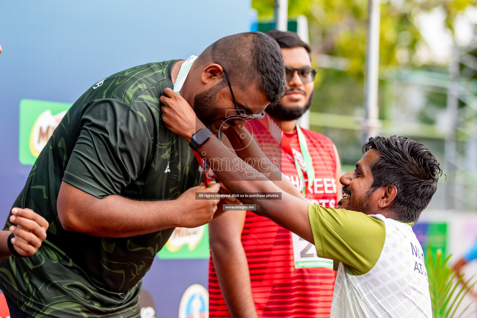
[[(292, 157), (277, 144), (281, 130), (268, 115), (266, 119), (270, 123), (269, 127), (259, 121), (252, 121), (249, 122), (249, 130), (270, 160), (272, 157), (276, 158), (277, 154), (281, 156), (281, 171), (301, 190), (300, 178)], [(308, 185), (306, 173), (303, 171), (305, 186), (308, 188), (307, 198), (313, 204), (335, 207), (336, 158), (332, 141), (319, 133), (305, 129), (302, 129), (302, 132), (315, 171), (311, 185)], [(293, 153), (298, 151), (300, 154), (296, 131), (286, 136)], [(247, 211), (241, 239), (249, 263), (252, 294), (259, 317), (330, 317), (335, 272), (332, 268), (295, 268), (290, 231), (266, 217)], [(220, 292), (212, 256), (209, 262), (209, 317), (230, 317)]]

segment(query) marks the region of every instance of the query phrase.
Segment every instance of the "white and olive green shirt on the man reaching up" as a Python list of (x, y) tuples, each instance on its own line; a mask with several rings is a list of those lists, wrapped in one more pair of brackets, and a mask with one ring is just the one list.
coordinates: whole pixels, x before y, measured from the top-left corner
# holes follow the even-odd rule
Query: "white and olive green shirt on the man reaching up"
[(308, 213), (318, 256), (338, 271), (331, 318), (432, 317), (414, 222), (319, 205)]

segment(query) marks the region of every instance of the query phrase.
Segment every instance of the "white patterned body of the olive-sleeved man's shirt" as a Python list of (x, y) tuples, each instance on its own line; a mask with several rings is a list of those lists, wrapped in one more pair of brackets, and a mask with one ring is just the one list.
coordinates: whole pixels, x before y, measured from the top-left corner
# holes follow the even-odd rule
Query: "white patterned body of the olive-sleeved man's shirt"
[(432, 318), (422, 247), (412, 227), (383, 215), (386, 238), (374, 267), (351, 275), (338, 267), (331, 318)]

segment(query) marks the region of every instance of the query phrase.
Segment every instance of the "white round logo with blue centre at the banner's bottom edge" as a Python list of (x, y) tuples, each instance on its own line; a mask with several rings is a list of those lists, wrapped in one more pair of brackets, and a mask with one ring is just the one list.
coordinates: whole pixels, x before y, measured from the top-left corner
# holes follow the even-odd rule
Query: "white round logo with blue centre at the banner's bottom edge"
[(208, 318), (208, 292), (200, 285), (189, 286), (180, 300), (179, 318)]

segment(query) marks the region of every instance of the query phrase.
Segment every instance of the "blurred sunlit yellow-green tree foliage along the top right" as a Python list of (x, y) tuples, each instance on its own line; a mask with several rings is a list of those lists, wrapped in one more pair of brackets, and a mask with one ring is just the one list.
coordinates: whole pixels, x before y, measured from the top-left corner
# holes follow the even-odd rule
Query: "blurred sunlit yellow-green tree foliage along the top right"
[[(252, 0), (259, 18), (273, 16), (273, 0)], [(413, 66), (423, 40), (416, 16), (438, 7), (446, 13), (453, 31), (456, 16), (477, 0), (385, 0), (381, 3), (380, 66)], [(348, 74), (363, 77), (367, 5), (365, 0), (289, 0), (289, 16), (303, 14), (310, 23), (310, 42), (315, 53), (350, 60)]]

